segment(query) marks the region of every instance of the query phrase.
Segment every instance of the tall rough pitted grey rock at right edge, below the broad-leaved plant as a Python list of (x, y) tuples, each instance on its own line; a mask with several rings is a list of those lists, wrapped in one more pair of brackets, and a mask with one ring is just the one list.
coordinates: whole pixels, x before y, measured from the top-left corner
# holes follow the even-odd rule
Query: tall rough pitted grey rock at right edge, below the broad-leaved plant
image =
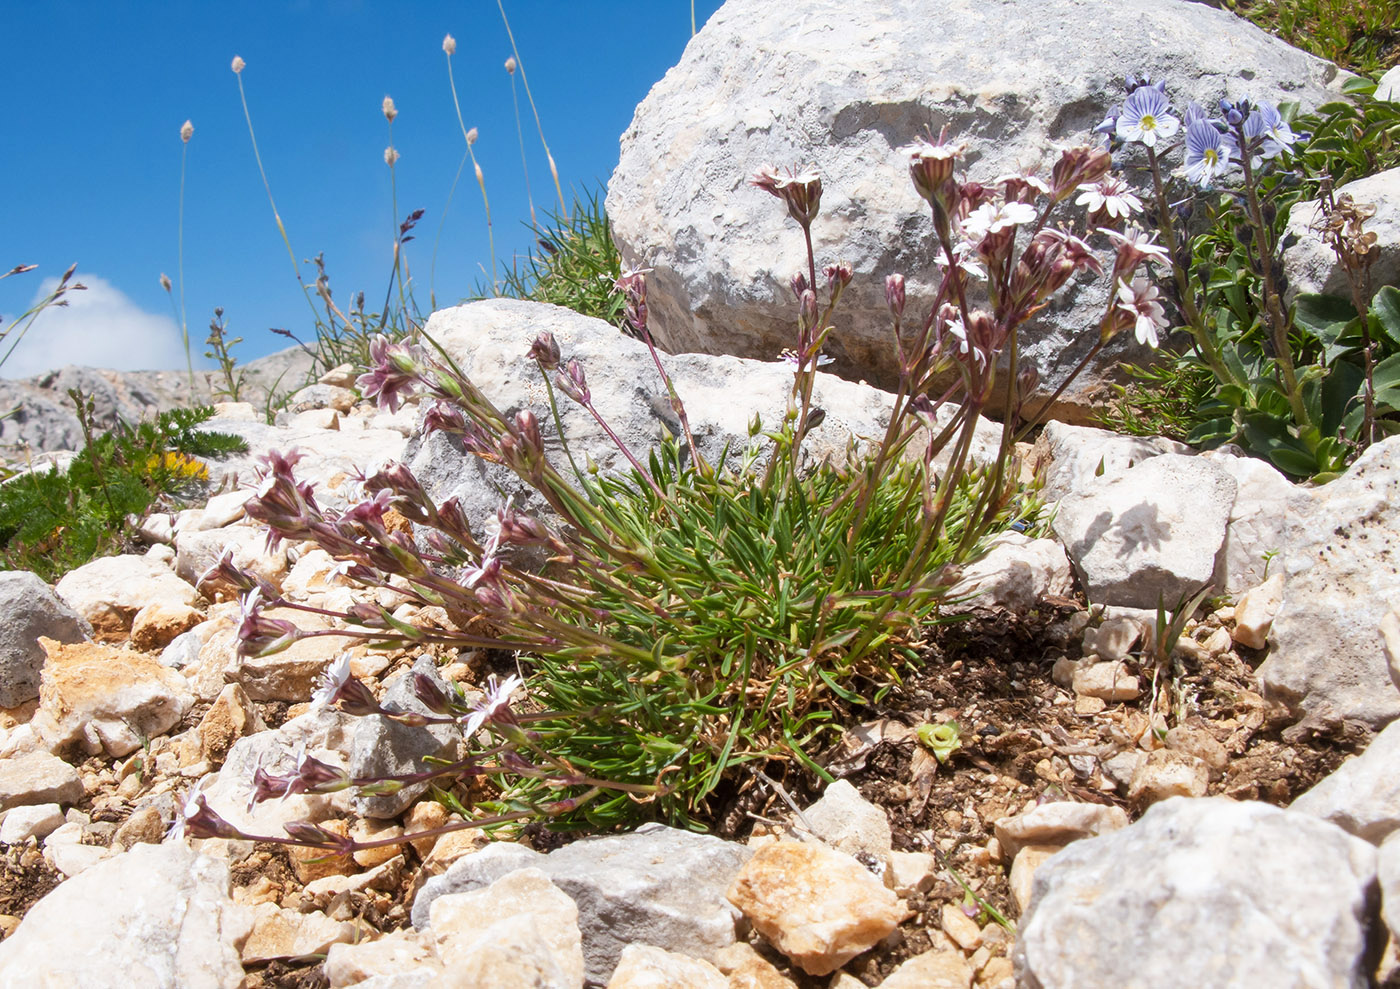
[(1313, 492), (1287, 551), (1284, 602), (1259, 668), (1264, 696), (1295, 714), (1382, 727), (1400, 717), (1380, 623), (1400, 601), (1400, 437)]

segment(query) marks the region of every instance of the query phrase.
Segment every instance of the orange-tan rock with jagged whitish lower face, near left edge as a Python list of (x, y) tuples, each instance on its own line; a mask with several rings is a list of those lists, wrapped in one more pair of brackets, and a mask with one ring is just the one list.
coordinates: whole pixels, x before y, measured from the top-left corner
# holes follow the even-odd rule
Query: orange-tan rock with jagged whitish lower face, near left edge
[(179, 724), (195, 703), (183, 677), (140, 653), (52, 639), (39, 644), (49, 658), (31, 724), (53, 751), (129, 755)]

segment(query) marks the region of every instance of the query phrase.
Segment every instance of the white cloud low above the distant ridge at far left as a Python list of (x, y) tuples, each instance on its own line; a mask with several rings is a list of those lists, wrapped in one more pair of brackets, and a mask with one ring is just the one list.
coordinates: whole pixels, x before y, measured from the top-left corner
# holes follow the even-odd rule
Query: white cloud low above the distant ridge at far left
[[(78, 272), (73, 282), (85, 284), (87, 291), (70, 291), (64, 296), (67, 305), (50, 305), (41, 312), (10, 359), (0, 364), (0, 377), (27, 378), (64, 364), (118, 371), (185, 367), (185, 340), (171, 317), (147, 312), (97, 275)], [(45, 279), (32, 304), (43, 300), (57, 283), (56, 277)], [(20, 329), (10, 319), (3, 326)], [(0, 356), (10, 343), (0, 342)], [(195, 347), (192, 336), (190, 350), (197, 363), (200, 352)]]

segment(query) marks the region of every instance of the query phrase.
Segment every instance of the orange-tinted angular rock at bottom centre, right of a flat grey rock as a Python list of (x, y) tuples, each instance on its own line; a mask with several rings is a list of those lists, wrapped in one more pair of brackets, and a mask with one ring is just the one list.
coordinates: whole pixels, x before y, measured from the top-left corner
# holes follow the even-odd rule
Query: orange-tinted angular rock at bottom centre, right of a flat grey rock
[(759, 849), (728, 892), (753, 927), (809, 975), (827, 975), (883, 940), (904, 912), (861, 863), (820, 845)]

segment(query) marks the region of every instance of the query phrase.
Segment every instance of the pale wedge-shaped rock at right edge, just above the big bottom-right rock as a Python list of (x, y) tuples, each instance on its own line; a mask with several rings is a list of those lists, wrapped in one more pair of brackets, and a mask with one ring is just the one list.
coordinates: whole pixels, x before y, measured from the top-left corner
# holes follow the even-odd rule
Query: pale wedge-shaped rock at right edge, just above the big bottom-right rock
[(1400, 721), (1376, 735), (1366, 751), (1343, 762), (1289, 810), (1331, 821), (1372, 845), (1400, 831)]

